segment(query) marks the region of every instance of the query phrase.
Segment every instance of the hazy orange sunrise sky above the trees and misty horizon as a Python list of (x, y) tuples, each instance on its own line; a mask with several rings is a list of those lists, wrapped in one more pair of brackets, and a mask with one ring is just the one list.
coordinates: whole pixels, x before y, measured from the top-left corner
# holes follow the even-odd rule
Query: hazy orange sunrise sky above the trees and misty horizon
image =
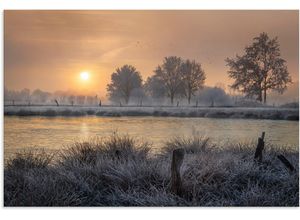
[[(4, 83), (106, 95), (117, 67), (130, 64), (143, 80), (166, 56), (200, 62), (206, 85), (228, 78), (225, 58), (242, 54), (261, 32), (278, 37), (298, 99), (298, 11), (5, 11)], [(82, 80), (81, 72), (89, 79)]]

